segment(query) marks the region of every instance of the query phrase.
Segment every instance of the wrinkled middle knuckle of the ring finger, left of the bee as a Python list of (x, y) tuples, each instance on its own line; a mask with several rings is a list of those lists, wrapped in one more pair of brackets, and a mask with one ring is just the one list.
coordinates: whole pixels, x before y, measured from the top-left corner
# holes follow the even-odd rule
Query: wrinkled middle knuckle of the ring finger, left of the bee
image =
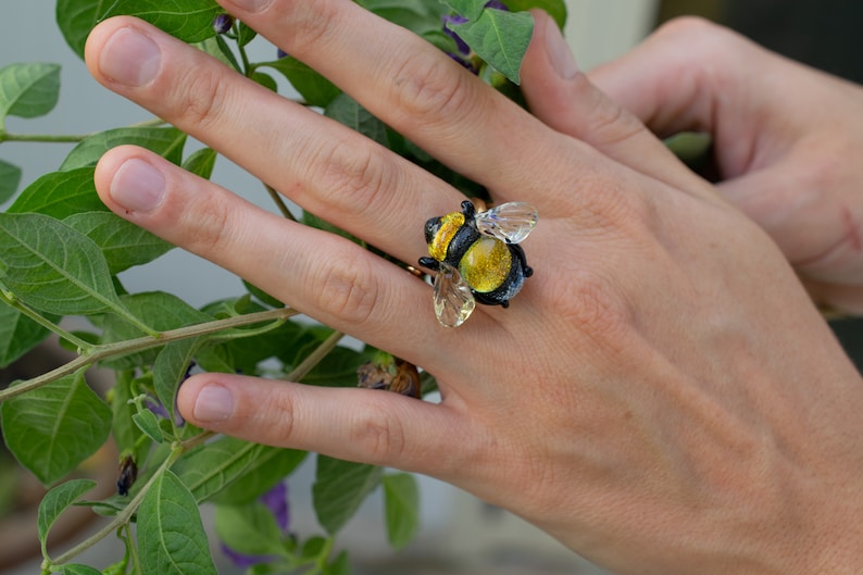
[(366, 323), (378, 301), (377, 282), (368, 266), (345, 255), (321, 261), (325, 263), (312, 277), (316, 309), (351, 324)]

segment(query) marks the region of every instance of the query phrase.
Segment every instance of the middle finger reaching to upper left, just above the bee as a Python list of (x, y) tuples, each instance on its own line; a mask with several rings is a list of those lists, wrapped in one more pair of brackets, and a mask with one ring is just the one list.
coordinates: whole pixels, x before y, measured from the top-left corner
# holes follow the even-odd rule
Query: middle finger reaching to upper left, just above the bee
[(143, 22), (102, 23), (86, 52), (91, 73), (109, 88), (223, 152), (304, 209), (404, 261), (425, 252), (425, 221), (463, 199), (368, 138)]

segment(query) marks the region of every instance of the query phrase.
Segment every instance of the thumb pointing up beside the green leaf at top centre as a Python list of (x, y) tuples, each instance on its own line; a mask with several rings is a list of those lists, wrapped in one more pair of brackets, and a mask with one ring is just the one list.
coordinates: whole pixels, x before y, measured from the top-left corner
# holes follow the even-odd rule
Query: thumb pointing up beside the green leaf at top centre
[(556, 23), (538, 10), (534, 17), (522, 67), (522, 90), (534, 115), (642, 174), (676, 187), (701, 186), (635, 115), (578, 70)]

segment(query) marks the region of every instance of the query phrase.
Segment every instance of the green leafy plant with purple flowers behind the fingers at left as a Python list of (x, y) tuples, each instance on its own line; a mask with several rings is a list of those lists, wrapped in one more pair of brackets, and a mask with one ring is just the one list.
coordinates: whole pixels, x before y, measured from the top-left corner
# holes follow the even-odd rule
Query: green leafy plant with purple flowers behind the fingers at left
[[(560, 25), (565, 18), (562, 0), (510, 0), (505, 7), (486, 0), (357, 2), (423, 36), (495, 87), (516, 96), (533, 26), (524, 11), (542, 8)], [(321, 109), (465, 192), (481, 193), (478, 186), (436, 163), (298, 60), (283, 55), (249, 62), (246, 47), (254, 32), (227, 18), (214, 0), (57, 2), (57, 22), (78, 55), (90, 29), (115, 14), (147, 20), (270, 88), (276, 87), (270, 74), (280, 74), (301, 103)], [(214, 29), (214, 18), (220, 18), (221, 34)], [(10, 134), (5, 126), (9, 116), (48, 114), (59, 97), (58, 65), (1, 67), (0, 142), (68, 141)], [(267, 568), (349, 573), (347, 555), (335, 551), (335, 538), (378, 488), (384, 492), (388, 540), (396, 549), (408, 545), (418, 525), (418, 495), (411, 475), (317, 455), (312, 501), (323, 534), (307, 534), (303, 539), (290, 532), (286, 502), (279, 503), (285, 518), (277, 521), (282, 515), (264, 501), (285, 485), (307, 453), (213, 437), (186, 424), (174, 409), (177, 389), (192, 367), (355, 386), (357, 368), (372, 358), (379, 362), (380, 352), (339, 346), (341, 334), (296, 321), (293, 310), (248, 284), (248, 292), (202, 309), (163, 291), (128, 293), (117, 274), (152, 262), (172, 246), (105, 209), (93, 186), (97, 161), (107, 150), (132, 143), (209, 178), (217, 153), (207, 148), (188, 152), (186, 134), (158, 120), (77, 140), (57, 172), (20, 191), (21, 170), (0, 160), (0, 203), (11, 201), (0, 213), (0, 366), (51, 334), (77, 353), (65, 365), (0, 390), (8, 449), (40, 482), (53, 486), (39, 509), (43, 573), (99, 573), (73, 561), (110, 535), (124, 542), (126, 553), (103, 573), (213, 573), (198, 512), (203, 503), (217, 507), (215, 530), (226, 552), (252, 558), (248, 564), (258, 563), (250, 567), (255, 573)], [(291, 216), (287, 210), (284, 213)], [(341, 233), (311, 214), (299, 220)], [(67, 332), (60, 325), (65, 316), (86, 317), (91, 327), (86, 333)], [(85, 372), (95, 365), (114, 371), (114, 385), (105, 397), (85, 379)], [(92, 482), (67, 477), (109, 438), (121, 450), (120, 493), (82, 501)], [(92, 507), (109, 522), (72, 550), (49, 557), (46, 541), (51, 526), (76, 503)], [(137, 529), (130, 528), (132, 523)]]

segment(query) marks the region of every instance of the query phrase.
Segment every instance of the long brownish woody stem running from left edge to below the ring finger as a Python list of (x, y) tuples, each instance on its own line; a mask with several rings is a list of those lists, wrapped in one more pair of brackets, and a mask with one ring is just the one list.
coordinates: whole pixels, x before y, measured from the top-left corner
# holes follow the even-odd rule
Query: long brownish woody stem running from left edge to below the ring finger
[(170, 343), (172, 341), (178, 341), (180, 339), (188, 339), (190, 337), (198, 337), (207, 334), (213, 334), (216, 332), (230, 329), (232, 327), (241, 327), (243, 325), (257, 324), (267, 321), (280, 322), (287, 320), (288, 317), (297, 315), (298, 313), (299, 312), (297, 310), (292, 310), (290, 308), (279, 308), (277, 310), (267, 310), (265, 312), (249, 313), (246, 315), (238, 315), (236, 317), (227, 317), (225, 320), (214, 320), (212, 322), (195, 324), (186, 327), (180, 327), (178, 329), (168, 329), (167, 332), (162, 332), (161, 334), (159, 334), (158, 337), (145, 336), (136, 339), (129, 339), (126, 341), (118, 341), (116, 343), (105, 343), (103, 346), (96, 346), (95, 348), (92, 348), (92, 350), (89, 353), (84, 355), (78, 355), (71, 362), (61, 365), (55, 370), (51, 370), (50, 372), (43, 373), (38, 377), (27, 379), (26, 382), (23, 382), (18, 385), (10, 387), (9, 389), (4, 389), (0, 391), (0, 403), (15, 396), (26, 393), (32, 389), (36, 389), (55, 379), (75, 373), (78, 370), (92, 365), (93, 363), (97, 363), (101, 360), (112, 358), (114, 355), (123, 355), (135, 351), (142, 351), (146, 349), (158, 348), (164, 346), (165, 343)]

